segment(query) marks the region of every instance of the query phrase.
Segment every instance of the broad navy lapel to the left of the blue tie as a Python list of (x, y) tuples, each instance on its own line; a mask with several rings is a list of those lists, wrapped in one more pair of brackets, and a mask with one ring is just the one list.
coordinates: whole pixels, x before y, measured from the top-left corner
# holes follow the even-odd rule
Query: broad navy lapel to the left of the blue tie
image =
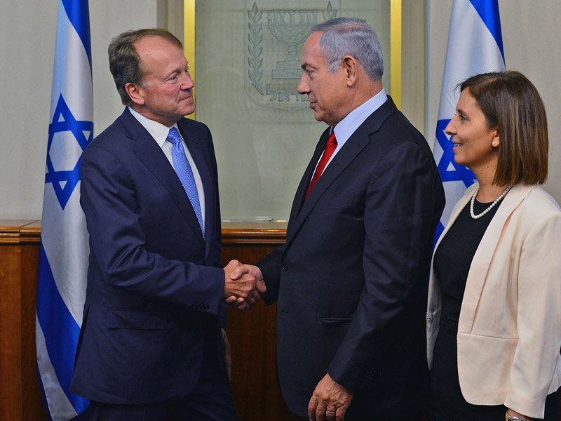
[(170, 162), (165, 157), (161, 148), (158, 147), (154, 138), (152, 138), (142, 124), (130, 114), (128, 109), (125, 109), (121, 118), (123, 119), (123, 126), (128, 138), (136, 140), (133, 146), (133, 152), (138, 159), (144, 163), (144, 166), (160, 180), (165, 189), (168, 190), (177, 208), (180, 209), (191, 229), (200, 234), (198, 235), (198, 239), (201, 241), (201, 245), (203, 245), (203, 234), (201, 232), (201, 227), (198, 225), (195, 211), (193, 210), (193, 206), (191, 206), (187, 193), (185, 193), (183, 189), (180, 179), (177, 178), (173, 166), (170, 165)]

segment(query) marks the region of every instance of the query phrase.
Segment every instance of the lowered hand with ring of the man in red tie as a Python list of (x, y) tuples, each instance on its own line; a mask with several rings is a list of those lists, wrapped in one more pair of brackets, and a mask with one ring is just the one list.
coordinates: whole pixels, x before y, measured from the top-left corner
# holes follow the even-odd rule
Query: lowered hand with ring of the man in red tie
[(310, 421), (343, 421), (353, 392), (335, 382), (329, 374), (320, 380), (308, 403)]

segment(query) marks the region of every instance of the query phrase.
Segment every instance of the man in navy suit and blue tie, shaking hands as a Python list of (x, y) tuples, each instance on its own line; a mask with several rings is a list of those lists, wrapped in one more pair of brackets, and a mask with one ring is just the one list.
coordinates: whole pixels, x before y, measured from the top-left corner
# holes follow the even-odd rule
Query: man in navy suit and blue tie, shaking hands
[(215, 153), (183, 118), (195, 105), (181, 42), (126, 32), (109, 66), (127, 108), (81, 158), (90, 265), (71, 390), (91, 420), (238, 420), (223, 298), (250, 306), (264, 286), (221, 267)]

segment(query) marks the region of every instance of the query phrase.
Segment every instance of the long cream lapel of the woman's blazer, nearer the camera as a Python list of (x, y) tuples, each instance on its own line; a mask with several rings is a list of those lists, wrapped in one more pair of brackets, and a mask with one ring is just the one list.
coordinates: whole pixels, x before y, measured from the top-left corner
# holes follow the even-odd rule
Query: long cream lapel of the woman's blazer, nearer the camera
[[(473, 189), (475, 189), (475, 187)], [(478, 307), (481, 292), (487, 280), (489, 265), (491, 265), (491, 260), (496, 251), (496, 246), (499, 243), (506, 220), (531, 191), (532, 186), (515, 185), (505, 196), (503, 202), (496, 210), (493, 219), (489, 222), (489, 226), (485, 230), (485, 234), (483, 234), (477, 250), (475, 250), (475, 255), (473, 255), (473, 260), (469, 268), (466, 289), (464, 291), (464, 300), (461, 305), (458, 331), (471, 332), (473, 320), (475, 319), (475, 310)], [(469, 199), (471, 199), (471, 195), (469, 195)], [(465, 201), (465, 203), (468, 201)], [(453, 222), (454, 221), (451, 220), (448, 226), (452, 225)], [(444, 233), (442, 233), (442, 235), (444, 235)]]

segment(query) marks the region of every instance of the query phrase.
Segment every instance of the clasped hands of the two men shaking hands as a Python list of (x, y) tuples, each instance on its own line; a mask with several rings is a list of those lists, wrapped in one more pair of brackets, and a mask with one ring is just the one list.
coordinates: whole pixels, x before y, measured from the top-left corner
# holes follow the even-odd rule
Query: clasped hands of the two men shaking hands
[(238, 260), (230, 260), (224, 267), (226, 279), (222, 298), (238, 310), (250, 309), (266, 293), (265, 282), (259, 267), (242, 265)]

